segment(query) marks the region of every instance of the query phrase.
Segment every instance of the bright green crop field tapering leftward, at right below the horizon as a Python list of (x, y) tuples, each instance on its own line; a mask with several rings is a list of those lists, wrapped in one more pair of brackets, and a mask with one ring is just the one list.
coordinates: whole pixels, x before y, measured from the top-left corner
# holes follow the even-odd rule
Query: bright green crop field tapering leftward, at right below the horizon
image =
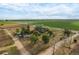
[(34, 24), (42, 24), (49, 27), (79, 30), (79, 21), (40, 21)]

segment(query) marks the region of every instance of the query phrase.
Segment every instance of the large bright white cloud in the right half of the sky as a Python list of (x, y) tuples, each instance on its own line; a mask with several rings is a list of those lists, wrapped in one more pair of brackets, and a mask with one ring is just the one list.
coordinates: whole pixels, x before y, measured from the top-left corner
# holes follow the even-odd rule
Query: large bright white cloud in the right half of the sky
[(42, 9), (36, 9), (34, 11), (38, 11), (43, 15), (54, 15), (54, 14), (69, 14), (72, 15), (74, 10), (66, 5), (58, 5), (51, 8), (42, 8)]

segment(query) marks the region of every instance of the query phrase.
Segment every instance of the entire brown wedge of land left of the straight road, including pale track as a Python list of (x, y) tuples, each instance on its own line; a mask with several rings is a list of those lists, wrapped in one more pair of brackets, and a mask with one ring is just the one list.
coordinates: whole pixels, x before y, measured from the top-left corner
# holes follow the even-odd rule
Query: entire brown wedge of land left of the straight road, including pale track
[(12, 38), (0, 29), (0, 54), (15, 55), (19, 54), (19, 51), (14, 45)]

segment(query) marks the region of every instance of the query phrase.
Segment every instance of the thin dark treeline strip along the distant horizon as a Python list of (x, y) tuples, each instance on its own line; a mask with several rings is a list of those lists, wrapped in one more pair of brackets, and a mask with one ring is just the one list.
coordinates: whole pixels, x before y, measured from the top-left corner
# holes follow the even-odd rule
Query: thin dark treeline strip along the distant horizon
[(52, 20), (52, 21), (64, 21), (64, 20), (66, 20), (66, 21), (79, 21), (79, 19), (5, 19), (5, 20), (3, 20), (3, 19), (0, 19), (0, 21), (40, 21), (40, 20)]

